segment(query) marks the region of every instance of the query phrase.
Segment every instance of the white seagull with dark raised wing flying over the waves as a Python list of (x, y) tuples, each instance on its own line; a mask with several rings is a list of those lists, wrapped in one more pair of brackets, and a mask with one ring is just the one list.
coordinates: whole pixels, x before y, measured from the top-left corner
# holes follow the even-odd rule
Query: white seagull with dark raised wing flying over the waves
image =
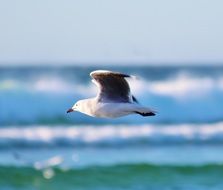
[(107, 70), (93, 71), (90, 76), (92, 82), (99, 88), (97, 96), (77, 101), (67, 113), (78, 111), (99, 118), (117, 118), (130, 114), (156, 115), (155, 111), (141, 106), (131, 95), (125, 78), (132, 76)]

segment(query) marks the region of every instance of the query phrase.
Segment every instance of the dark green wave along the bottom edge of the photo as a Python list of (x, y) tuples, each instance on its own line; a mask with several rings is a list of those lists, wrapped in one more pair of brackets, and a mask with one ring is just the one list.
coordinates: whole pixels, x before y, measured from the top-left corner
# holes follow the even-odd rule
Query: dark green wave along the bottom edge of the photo
[[(7, 172), (7, 176), (5, 173)], [(44, 179), (33, 168), (1, 167), (2, 189), (222, 189), (223, 166), (156, 166), (149, 164), (89, 167)]]

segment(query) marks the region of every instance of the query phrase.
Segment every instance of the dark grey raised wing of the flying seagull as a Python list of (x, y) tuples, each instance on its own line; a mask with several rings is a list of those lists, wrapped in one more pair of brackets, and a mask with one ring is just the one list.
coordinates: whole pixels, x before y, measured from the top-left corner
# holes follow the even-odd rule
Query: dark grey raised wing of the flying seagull
[(132, 102), (133, 98), (130, 88), (125, 77), (130, 75), (97, 70), (90, 73), (90, 76), (96, 82), (100, 91), (98, 93), (98, 101), (100, 102)]

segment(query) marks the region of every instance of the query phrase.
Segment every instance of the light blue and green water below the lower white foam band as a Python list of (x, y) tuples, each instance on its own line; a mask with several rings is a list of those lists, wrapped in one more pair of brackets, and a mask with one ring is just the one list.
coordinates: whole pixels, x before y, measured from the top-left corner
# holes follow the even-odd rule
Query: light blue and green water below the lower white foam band
[[(7, 162), (0, 168), (0, 185), (2, 189), (222, 189), (221, 150), (219, 145), (7, 149), (1, 153)], [(45, 161), (55, 155), (63, 161), (48, 167)]]

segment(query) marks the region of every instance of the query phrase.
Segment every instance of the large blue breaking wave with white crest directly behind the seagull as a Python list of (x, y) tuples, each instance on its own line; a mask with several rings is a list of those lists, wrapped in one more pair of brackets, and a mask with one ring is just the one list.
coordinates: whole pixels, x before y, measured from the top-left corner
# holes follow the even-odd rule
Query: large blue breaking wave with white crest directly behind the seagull
[[(138, 74), (143, 78), (129, 82), (139, 102), (157, 110), (157, 117), (128, 116), (109, 120), (110, 123), (210, 123), (223, 120), (223, 77), (216, 74), (218, 70), (202, 76), (192, 74), (192, 71), (178, 71), (170, 75), (173, 72), (170, 70), (168, 77), (162, 77), (162, 74), (158, 77), (149, 71), (145, 69), (145, 73)], [(0, 77), (0, 126), (98, 123), (83, 114), (65, 114), (77, 100), (97, 94), (97, 87), (90, 82), (88, 71), (77, 71), (73, 78), (67, 76), (68, 71), (64, 74), (48, 72), (28, 76), (27, 79), (21, 78), (25, 73), (19, 73), (20, 78)], [(82, 76), (82, 73), (87, 74)], [(133, 71), (129, 73), (137, 76)], [(150, 74), (153, 74), (152, 78), (147, 76)], [(100, 124), (107, 122), (101, 120)]]

